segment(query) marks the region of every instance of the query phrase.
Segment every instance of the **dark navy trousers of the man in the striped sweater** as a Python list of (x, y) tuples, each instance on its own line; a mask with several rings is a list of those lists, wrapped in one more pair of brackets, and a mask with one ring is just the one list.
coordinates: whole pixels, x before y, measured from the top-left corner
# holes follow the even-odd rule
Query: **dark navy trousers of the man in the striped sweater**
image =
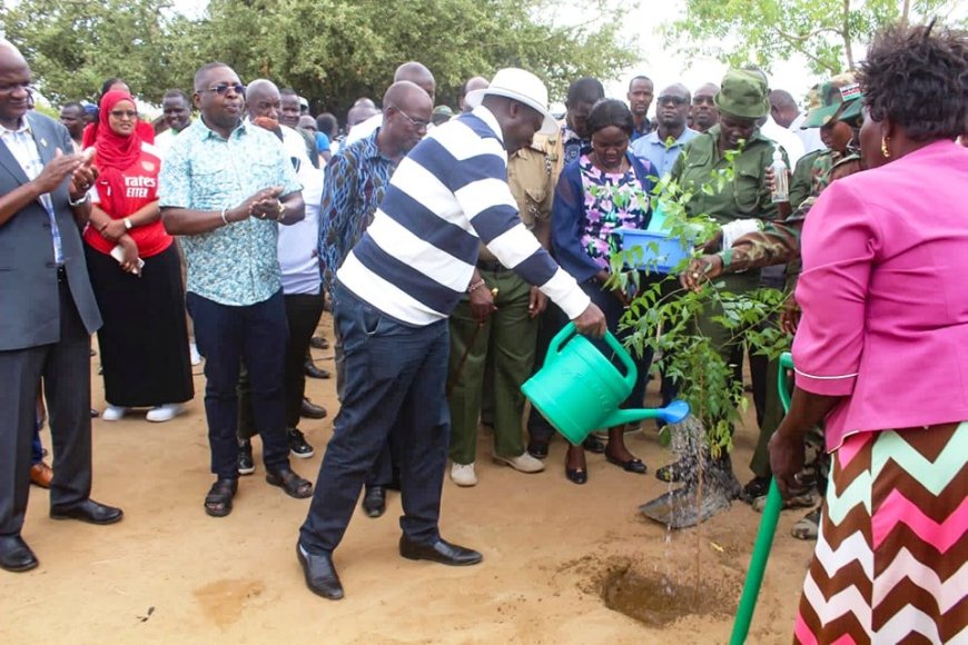
[(334, 290), (346, 389), (299, 532), (300, 544), (317, 554), (336, 548), (367, 474), (392, 434), (401, 470), (401, 528), (409, 539), (434, 542), (439, 537), (450, 434), (444, 396), (447, 321), (409, 327), (338, 285)]

